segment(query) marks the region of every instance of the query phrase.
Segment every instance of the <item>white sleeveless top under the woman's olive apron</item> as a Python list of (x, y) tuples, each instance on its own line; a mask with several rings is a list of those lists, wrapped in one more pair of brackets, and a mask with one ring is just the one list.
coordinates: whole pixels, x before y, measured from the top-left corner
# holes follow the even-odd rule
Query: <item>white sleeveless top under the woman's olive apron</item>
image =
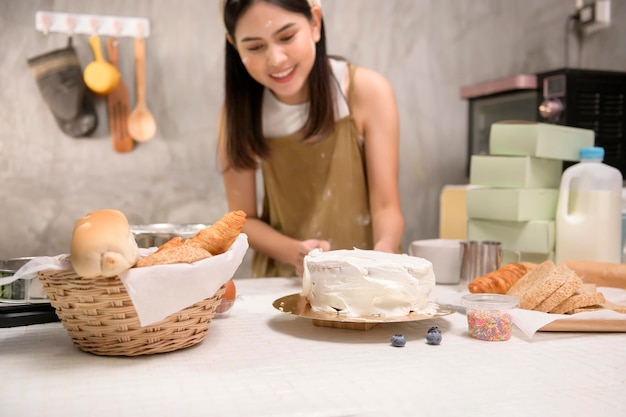
[[(335, 120), (350, 114), (346, 91), (348, 87), (348, 63), (330, 59), (334, 76), (332, 84), (335, 97)], [(266, 88), (263, 92), (263, 136), (266, 138), (283, 137), (297, 132), (309, 115), (309, 103), (285, 104)]]

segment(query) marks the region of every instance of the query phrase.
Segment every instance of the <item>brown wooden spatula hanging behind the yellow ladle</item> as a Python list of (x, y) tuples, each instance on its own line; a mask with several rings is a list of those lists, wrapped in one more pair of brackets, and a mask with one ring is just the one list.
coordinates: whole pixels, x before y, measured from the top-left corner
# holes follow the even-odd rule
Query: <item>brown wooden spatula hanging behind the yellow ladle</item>
[[(111, 64), (119, 70), (119, 45), (117, 39), (109, 38), (106, 42), (107, 56)], [(128, 88), (120, 79), (117, 87), (107, 96), (109, 110), (109, 129), (113, 149), (117, 152), (130, 152), (133, 150), (134, 141), (128, 133)]]

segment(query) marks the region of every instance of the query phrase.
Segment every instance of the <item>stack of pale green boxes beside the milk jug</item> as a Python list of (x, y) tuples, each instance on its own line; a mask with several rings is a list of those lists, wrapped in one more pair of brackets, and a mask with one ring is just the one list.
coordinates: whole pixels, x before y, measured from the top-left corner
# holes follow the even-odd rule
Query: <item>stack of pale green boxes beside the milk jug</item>
[(489, 155), (473, 155), (467, 237), (495, 240), (522, 260), (554, 259), (555, 215), (563, 161), (593, 146), (592, 130), (531, 122), (491, 126)]

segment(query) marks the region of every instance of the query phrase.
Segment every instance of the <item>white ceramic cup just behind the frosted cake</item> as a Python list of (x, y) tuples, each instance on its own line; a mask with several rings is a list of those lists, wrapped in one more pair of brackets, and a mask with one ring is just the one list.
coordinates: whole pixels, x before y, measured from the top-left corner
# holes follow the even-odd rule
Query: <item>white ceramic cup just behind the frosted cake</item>
[(437, 284), (458, 284), (461, 281), (460, 240), (415, 240), (409, 245), (409, 255), (424, 258), (433, 264)]

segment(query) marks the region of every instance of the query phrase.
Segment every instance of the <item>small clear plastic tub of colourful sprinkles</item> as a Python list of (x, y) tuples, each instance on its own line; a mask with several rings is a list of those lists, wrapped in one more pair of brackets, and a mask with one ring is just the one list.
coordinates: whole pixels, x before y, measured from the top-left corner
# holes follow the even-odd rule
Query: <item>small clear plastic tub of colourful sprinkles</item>
[(465, 307), (467, 329), (474, 339), (505, 341), (511, 338), (513, 315), (519, 305), (517, 297), (502, 294), (466, 294), (461, 297)]

